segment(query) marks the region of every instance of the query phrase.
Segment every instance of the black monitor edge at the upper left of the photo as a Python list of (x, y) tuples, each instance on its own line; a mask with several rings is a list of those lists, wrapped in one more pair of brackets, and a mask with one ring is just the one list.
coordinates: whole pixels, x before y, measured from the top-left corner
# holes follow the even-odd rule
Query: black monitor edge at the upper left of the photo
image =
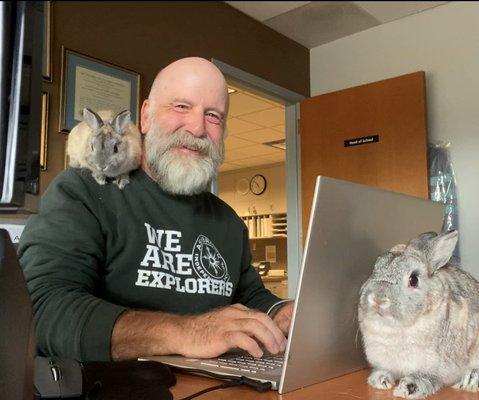
[[(38, 194), (43, 2), (0, 1), (0, 211)], [(35, 211), (35, 210), (31, 210)]]

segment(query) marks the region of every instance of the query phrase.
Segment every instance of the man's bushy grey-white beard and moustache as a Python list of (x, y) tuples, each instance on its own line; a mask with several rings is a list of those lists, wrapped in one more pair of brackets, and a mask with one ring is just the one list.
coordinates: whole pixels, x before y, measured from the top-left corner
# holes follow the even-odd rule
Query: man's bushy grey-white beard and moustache
[[(224, 159), (223, 140), (216, 145), (208, 137), (197, 138), (184, 130), (163, 132), (155, 122), (143, 143), (152, 178), (171, 194), (191, 196), (207, 191)], [(201, 154), (182, 154), (181, 147)]]

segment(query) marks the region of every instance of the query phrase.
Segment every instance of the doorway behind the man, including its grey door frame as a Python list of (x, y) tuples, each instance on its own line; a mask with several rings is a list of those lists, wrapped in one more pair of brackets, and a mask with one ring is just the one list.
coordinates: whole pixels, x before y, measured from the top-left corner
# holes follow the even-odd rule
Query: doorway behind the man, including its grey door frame
[(297, 103), (304, 97), (221, 61), (212, 62), (236, 90), (230, 94), (232, 134), (225, 140), (225, 165), (216, 193), (226, 196), (233, 208), (236, 200), (242, 203), (235, 210), (249, 228), (253, 262), (263, 271), (265, 285), (280, 297), (294, 298), (301, 260)]

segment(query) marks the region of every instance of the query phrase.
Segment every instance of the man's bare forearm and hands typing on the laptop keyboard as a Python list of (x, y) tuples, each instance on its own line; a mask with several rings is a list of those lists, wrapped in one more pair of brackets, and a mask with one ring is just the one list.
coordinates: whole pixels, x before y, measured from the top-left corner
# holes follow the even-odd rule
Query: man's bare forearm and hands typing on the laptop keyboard
[[(288, 311), (290, 310), (290, 311)], [(125, 311), (112, 332), (111, 354), (115, 361), (149, 355), (181, 354), (212, 358), (240, 348), (254, 357), (286, 348), (292, 305), (278, 310), (275, 322), (260, 311), (241, 304), (200, 315), (175, 315), (156, 311)]]

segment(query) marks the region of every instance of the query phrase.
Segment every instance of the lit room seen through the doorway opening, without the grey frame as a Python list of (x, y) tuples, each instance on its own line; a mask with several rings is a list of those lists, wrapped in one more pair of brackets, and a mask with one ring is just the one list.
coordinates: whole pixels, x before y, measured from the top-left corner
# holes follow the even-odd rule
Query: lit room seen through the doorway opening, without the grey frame
[(288, 297), (284, 105), (228, 82), (230, 109), (218, 197), (248, 227), (252, 265)]

